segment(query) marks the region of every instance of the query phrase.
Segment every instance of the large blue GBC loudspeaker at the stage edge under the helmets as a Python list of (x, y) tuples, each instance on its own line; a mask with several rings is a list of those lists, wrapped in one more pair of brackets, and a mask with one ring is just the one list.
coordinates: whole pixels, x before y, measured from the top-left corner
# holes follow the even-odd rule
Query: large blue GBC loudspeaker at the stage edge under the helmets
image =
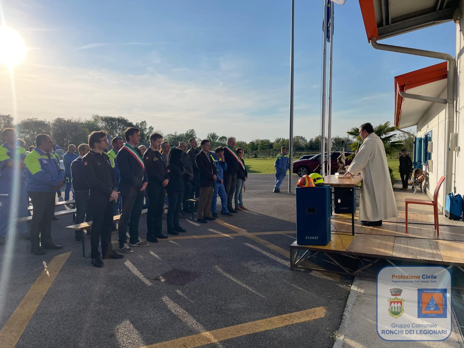
[(328, 245), (330, 186), (296, 187), (296, 243)]

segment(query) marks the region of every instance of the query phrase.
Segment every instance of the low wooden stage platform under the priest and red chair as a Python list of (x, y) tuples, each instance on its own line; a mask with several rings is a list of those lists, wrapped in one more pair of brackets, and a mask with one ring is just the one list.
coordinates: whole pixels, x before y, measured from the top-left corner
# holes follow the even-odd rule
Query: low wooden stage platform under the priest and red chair
[[(367, 227), (355, 220), (354, 232), (351, 235), (351, 214), (332, 216), (331, 240), (328, 245), (290, 245), (291, 270), (311, 269), (327, 271), (323, 267), (305, 266), (309, 261), (323, 253), (330, 263), (337, 264), (342, 271), (334, 273), (359, 275), (359, 271), (369, 267), (381, 259), (413, 263), (442, 264), (457, 266), (464, 271), (464, 222), (449, 220), (439, 216), (440, 235), (433, 230), (432, 214), (409, 214), (409, 228), (406, 234), (405, 214), (400, 213), (396, 219), (384, 221), (382, 226)], [(343, 263), (334, 259), (334, 254), (368, 258), (371, 263), (356, 271), (343, 267)], [(314, 264), (310, 263), (314, 266)]]

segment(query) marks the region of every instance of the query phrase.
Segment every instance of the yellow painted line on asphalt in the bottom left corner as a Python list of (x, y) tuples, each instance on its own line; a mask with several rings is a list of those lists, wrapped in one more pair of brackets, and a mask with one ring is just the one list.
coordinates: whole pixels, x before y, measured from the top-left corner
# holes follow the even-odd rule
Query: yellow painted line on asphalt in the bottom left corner
[(52, 261), (47, 264), (46, 269), (42, 271), (34, 284), (32, 284), (31, 289), (27, 291), (21, 303), (19, 303), (0, 331), (2, 348), (14, 348), (16, 343), (18, 343), (29, 320), (31, 320), (35, 310), (39, 307), (40, 302), (69, 258), (69, 255), (71, 255), (71, 251), (52, 258)]

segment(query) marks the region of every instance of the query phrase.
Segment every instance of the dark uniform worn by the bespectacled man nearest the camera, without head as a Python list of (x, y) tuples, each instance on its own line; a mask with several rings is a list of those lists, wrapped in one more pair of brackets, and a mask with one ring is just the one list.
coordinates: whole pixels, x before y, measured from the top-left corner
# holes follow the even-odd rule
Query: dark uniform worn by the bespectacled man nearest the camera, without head
[(110, 196), (116, 189), (115, 174), (108, 155), (91, 150), (82, 158), (82, 168), (90, 186), (89, 206), (93, 218), (90, 256), (100, 257), (98, 243), (101, 238), (103, 258), (109, 258), (113, 253), (111, 230), (115, 202), (110, 202)]

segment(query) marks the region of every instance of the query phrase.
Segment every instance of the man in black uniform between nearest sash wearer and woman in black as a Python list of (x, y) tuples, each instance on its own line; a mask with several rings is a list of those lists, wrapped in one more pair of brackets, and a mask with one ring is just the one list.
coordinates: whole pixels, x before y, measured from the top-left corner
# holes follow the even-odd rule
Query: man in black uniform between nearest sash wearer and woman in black
[(161, 134), (153, 133), (150, 135), (150, 147), (143, 154), (143, 163), (148, 175), (148, 206), (147, 215), (147, 240), (148, 242), (158, 243), (156, 238), (168, 238), (162, 234), (164, 188), (168, 185), (169, 175), (166, 165), (161, 157), (159, 148), (163, 140)]

